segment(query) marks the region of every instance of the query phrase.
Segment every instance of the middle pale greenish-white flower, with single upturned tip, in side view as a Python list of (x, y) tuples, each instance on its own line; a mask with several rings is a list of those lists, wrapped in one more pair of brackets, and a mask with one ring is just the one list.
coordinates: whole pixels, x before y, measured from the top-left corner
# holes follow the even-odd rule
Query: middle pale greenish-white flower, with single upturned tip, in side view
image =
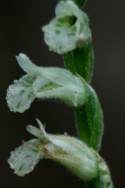
[(8, 88), (6, 98), (11, 111), (24, 112), (35, 98), (59, 99), (74, 107), (86, 101), (86, 83), (68, 70), (36, 66), (24, 54), (17, 56), (17, 61), (27, 74)]

